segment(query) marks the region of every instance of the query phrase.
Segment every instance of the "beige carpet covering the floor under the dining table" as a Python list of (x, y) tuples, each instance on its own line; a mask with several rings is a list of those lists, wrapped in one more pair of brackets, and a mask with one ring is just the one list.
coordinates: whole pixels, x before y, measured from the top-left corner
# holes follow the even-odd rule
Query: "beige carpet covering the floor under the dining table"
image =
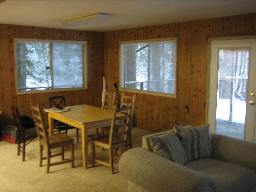
[[(141, 137), (148, 133), (134, 128), (134, 145), (140, 146)], [(74, 136), (75, 132), (69, 134)], [(27, 146), (25, 162), (16, 155), (16, 147), (16, 144), (0, 142), (0, 192), (127, 191), (127, 180), (118, 173), (112, 175), (109, 168), (97, 166), (86, 171), (82, 169), (81, 143), (76, 144), (75, 168), (71, 168), (70, 164), (53, 166), (49, 174), (46, 174), (45, 166), (39, 167), (38, 140)], [(100, 156), (105, 156), (106, 152), (98, 152)]]

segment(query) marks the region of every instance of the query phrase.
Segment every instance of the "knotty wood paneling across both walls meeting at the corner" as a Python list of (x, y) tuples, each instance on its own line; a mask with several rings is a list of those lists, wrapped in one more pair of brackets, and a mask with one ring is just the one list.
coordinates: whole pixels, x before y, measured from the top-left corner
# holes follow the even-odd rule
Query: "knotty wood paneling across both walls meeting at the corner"
[[(48, 98), (57, 94), (64, 95), (68, 105), (100, 105), (102, 74), (105, 74), (110, 90), (113, 90), (113, 83), (119, 81), (120, 41), (177, 37), (177, 97), (136, 94), (136, 124), (155, 131), (172, 128), (175, 124), (202, 124), (207, 118), (209, 39), (247, 35), (256, 35), (256, 14), (104, 34), (0, 25), (0, 110), (10, 116), (10, 106), (16, 104), (23, 114), (30, 115), (29, 103), (46, 107)], [(16, 95), (14, 38), (87, 41), (88, 90)], [(186, 105), (188, 113), (184, 112)]]

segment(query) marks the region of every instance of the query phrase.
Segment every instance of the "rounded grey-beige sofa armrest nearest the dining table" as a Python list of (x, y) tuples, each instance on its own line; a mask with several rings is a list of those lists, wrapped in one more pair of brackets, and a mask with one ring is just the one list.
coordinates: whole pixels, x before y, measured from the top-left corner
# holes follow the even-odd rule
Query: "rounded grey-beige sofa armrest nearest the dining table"
[(125, 152), (119, 161), (119, 170), (147, 191), (214, 192), (212, 181), (205, 175), (143, 148)]

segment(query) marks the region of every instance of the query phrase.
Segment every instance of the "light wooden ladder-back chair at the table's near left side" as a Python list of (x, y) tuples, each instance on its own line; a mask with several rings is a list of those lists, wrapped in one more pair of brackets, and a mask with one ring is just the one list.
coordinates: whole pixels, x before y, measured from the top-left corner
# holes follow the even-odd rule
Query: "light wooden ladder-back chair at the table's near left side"
[[(35, 121), (36, 130), (39, 138), (40, 146), (40, 164), (42, 166), (43, 160), (47, 160), (46, 173), (49, 173), (50, 166), (59, 165), (63, 163), (71, 163), (74, 167), (74, 143), (73, 139), (65, 134), (48, 135), (47, 129), (44, 125), (42, 113), (39, 105), (31, 105), (32, 116)], [(71, 158), (65, 159), (64, 147), (71, 146)], [(60, 148), (61, 152), (52, 154), (52, 149)], [(43, 151), (46, 150), (46, 157), (43, 157)], [(51, 163), (51, 158), (61, 156), (61, 161)]]

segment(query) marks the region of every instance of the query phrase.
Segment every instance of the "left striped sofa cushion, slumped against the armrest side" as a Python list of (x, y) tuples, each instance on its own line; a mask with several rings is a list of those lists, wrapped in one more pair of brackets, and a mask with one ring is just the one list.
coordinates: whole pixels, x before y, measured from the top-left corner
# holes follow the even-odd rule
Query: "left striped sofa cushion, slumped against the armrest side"
[(149, 146), (153, 153), (166, 159), (182, 165), (187, 161), (185, 150), (174, 132), (150, 137)]

